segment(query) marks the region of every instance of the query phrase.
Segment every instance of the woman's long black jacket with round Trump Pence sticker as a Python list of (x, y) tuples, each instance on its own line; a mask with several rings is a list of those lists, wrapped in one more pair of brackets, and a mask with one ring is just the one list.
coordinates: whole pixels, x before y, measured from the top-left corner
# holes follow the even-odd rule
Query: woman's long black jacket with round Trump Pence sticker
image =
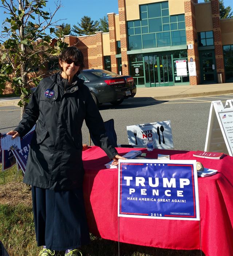
[(15, 129), (23, 137), (36, 123), (24, 183), (51, 190), (82, 186), (83, 120), (99, 146), (113, 158), (117, 151), (108, 142), (103, 119), (83, 80), (75, 76), (68, 86), (56, 73), (40, 81)]

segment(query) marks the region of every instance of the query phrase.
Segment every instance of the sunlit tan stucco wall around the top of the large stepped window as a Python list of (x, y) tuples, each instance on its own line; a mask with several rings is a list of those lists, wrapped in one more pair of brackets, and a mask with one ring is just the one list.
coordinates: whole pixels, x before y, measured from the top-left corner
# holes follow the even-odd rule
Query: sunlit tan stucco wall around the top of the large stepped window
[[(167, 1), (167, 0), (166, 0)], [(161, 0), (125, 0), (126, 3), (126, 20), (140, 19), (139, 5), (163, 2)], [(169, 15), (185, 13), (184, 0), (169, 1)]]

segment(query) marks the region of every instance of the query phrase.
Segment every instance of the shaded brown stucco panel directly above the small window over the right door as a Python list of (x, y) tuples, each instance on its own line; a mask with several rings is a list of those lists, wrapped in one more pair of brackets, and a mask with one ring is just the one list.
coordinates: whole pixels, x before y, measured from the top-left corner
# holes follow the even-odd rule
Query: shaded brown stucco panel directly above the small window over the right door
[(213, 30), (211, 3), (195, 4), (197, 32)]

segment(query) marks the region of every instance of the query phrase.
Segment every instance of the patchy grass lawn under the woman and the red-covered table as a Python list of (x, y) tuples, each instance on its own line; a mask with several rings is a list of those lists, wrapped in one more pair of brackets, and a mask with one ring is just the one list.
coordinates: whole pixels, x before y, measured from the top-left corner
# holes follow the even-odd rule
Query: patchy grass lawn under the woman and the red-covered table
[[(1, 165), (0, 165), (1, 170)], [(10, 256), (37, 256), (30, 187), (22, 183), (16, 166), (0, 171), (0, 240)], [(119, 243), (91, 234), (91, 243), (82, 248), (83, 256), (200, 256), (201, 251), (184, 251)], [(56, 256), (64, 256), (57, 252)], [(204, 256), (204, 253), (202, 253)]]

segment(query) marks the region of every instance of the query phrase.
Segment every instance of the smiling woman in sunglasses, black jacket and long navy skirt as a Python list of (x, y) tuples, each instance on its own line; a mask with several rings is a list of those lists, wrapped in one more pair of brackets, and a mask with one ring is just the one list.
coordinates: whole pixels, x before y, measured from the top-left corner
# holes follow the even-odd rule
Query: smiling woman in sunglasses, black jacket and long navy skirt
[(59, 65), (62, 71), (40, 81), (19, 125), (8, 133), (23, 137), (36, 123), (23, 181), (32, 186), (40, 256), (55, 251), (82, 255), (78, 248), (90, 240), (82, 190), (83, 121), (115, 165), (125, 159), (109, 144), (91, 93), (78, 78), (84, 67), (82, 52), (68, 47)]

